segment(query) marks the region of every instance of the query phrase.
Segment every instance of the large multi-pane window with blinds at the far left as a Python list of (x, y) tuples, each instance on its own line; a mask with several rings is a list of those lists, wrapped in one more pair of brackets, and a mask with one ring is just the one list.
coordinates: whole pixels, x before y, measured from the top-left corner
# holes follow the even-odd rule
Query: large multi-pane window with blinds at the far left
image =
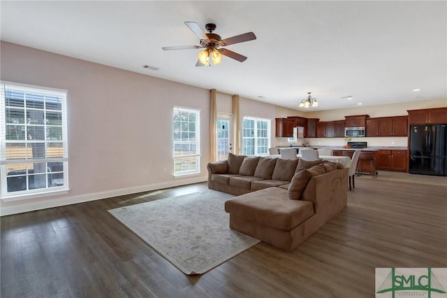
[(68, 190), (66, 91), (1, 83), (1, 197)]

